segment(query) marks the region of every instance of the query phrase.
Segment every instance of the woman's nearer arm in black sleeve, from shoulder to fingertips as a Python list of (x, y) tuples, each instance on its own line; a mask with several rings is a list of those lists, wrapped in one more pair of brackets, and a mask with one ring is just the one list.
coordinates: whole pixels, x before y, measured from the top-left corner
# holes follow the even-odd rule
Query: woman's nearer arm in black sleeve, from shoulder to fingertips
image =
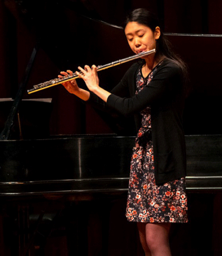
[(76, 73), (85, 81), (88, 89), (106, 102), (108, 107), (115, 109), (124, 116), (139, 112), (158, 100), (166, 100), (166, 97), (170, 97), (169, 92), (172, 90), (172, 86), (180, 81), (180, 68), (176, 64), (168, 62), (159, 67), (149, 85), (139, 91), (138, 94), (131, 98), (121, 98), (99, 87), (96, 79), (96, 66), (93, 66), (92, 69), (85, 66), (85, 70), (79, 67), (79, 70), (82, 74)]

